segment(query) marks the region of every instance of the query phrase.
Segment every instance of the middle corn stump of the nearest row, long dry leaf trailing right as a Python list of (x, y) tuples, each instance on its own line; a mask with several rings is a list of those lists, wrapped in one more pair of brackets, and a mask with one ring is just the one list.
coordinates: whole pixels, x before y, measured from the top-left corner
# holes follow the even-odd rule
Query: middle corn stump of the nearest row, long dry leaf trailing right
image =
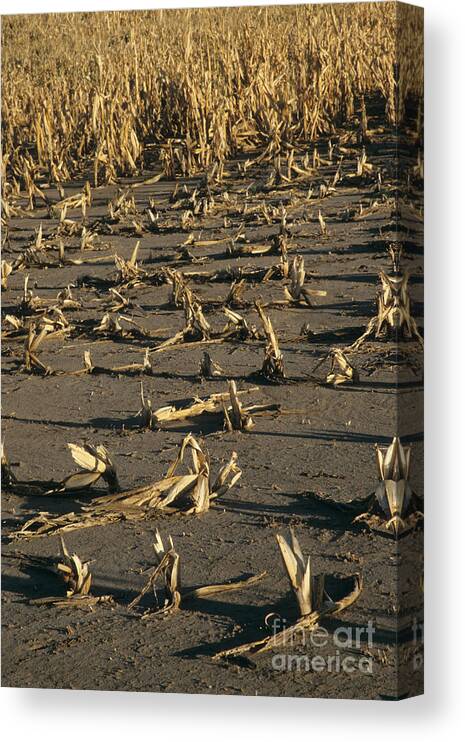
[[(149, 607), (142, 613), (141, 618), (146, 620), (153, 616), (167, 615), (176, 612), (182, 603), (195, 598), (214, 595), (221, 592), (230, 592), (232, 590), (241, 590), (243, 587), (254, 585), (265, 577), (266, 572), (254, 575), (246, 579), (233, 580), (217, 585), (204, 585), (195, 589), (183, 588), (181, 586), (181, 560), (176, 552), (173, 539), (168, 536), (168, 547), (165, 547), (159, 531), (155, 532), (155, 542), (153, 544), (157, 566), (152, 570), (147, 583), (144, 585), (139, 595), (129, 604), (129, 609), (135, 608), (144, 595), (153, 592), (155, 597), (155, 606)], [(156, 592), (156, 581), (159, 577), (163, 578), (165, 588), (165, 600), (160, 607)]]

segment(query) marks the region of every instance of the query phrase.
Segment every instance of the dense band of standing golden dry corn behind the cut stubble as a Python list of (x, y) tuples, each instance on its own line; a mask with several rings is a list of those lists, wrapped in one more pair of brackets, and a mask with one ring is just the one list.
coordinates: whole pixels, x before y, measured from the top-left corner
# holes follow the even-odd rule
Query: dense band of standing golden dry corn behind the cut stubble
[(421, 16), (400, 15), (363, 3), (5, 17), (4, 173), (90, 171), (99, 185), (160, 162), (192, 175), (331, 134), (372, 94), (393, 124), (422, 80), (421, 54), (400, 53)]

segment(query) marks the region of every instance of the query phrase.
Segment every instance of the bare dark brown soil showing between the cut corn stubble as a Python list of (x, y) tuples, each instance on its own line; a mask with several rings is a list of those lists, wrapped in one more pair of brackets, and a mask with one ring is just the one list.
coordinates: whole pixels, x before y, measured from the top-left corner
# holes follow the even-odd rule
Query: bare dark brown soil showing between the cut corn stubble
[[(379, 136), (367, 148), (368, 159), (383, 171), (382, 191), (390, 198), (393, 183), (393, 140), (389, 133)], [(322, 157), (326, 145), (321, 143)], [(336, 165), (322, 166), (314, 183), (334, 174)], [(279, 230), (279, 206), (288, 211), (289, 240), (294, 254), (305, 258), (306, 270), (314, 277), (310, 288), (327, 291), (315, 298), (313, 308), (271, 307), (269, 310), (284, 354), (286, 380), (266, 383), (253, 376), (262, 364), (263, 341), (224, 342), (205, 346), (225, 370), (225, 378), (202, 380), (198, 375), (203, 346), (173, 348), (152, 353), (153, 374), (108, 374), (40, 376), (21, 369), (23, 343), (8, 338), (3, 342), (3, 436), (6, 450), (18, 480), (60, 481), (75, 470), (66, 443), (104, 444), (111, 452), (120, 483), (126, 489), (161, 478), (173, 460), (178, 444), (188, 431), (205, 437), (213, 468), (225, 462), (232, 450), (238, 453), (243, 476), (238, 485), (219, 498), (212, 509), (199, 517), (174, 515), (142, 521), (122, 521), (105, 527), (77, 530), (66, 534), (70, 550), (81, 558), (92, 559), (93, 593), (112, 594), (114, 605), (98, 605), (94, 610), (51, 608), (31, 605), (29, 600), (56, 593), (55, 583), (39, 571), (21, 569), (11, 555), (21, 550), (33, 555), (52, 555), (58, 551), (56, 537), (15, 541), (9, 534), (39, 510), (63, 513), (79, 508), (90, 495), (28, 497), (3, 493), (3, 683), (18, 687), (118, 689), (128, 691), (167, 691), (186, 693), (228, 693), (276, 696), (318, 696), (344, 698), (394, 698), (415, 693), (421, 687), (421, 672), (414, 681), (402, 680), (402, 666), (415, 656), (409, 635), (398, 650), (396, 626), (413, 609), (418, 609), (421, 534), (407, 534), (399, 542), (386, 535), (351, 526), (334, 509), (325, 509), (312, 499), (312, 493), (347, 502), (373, 492), (377, 484), (374, 444), (386, 445), (396, 431), (404, 443), (412, 444), (412, 483), (421, 481), (422, 469), (422, 379), (406, 360), (415, 343), (368, 341), (352, 356), (360, 372), (360, 382), (333, 388), (319, 385), (309, 377), (331, 347), (344, 347), (364, 330), (376, 313), (379, 270), (389, 270), (386, 245), (399, 237), (392, 207), (382, 204), (375, 179), (352, 185), (343, 180), (336, 193), (322, 199), (306, 200), (309, 182), (298, 182), (260, 192), (269, 165), (252, 166), (245, 177), (237, 175), (235, 163), (228, 165), (229, 177), (221, 186), (212, 186), (214, 212), (196, 217), (191, 230), (196, 238), (214, 240), (234, 235), (245, 223), (251, 244), (266, 243)], [(343, 173), (354, 172), (355, 153), (347, 154)], [(144, 174), (148, 177), (150, 173)], [(83, 182), (71, 183), (66, 195), (78, 192)], [(189, 189), (198, 183), (186, 179)], [(249, 186), (249, 192), (245, 189)], [(270, 266), (279, 256), (253, 255), (232, 258), (225, 254), (226, 243), (190, 248), (199, 264), (176, 260), (179, 245), (188, 231), (178, 226), (180, 211), (169, 202), (174, 184), (162, 180), (134, 191), (141, 212), (153, 199), (159, 213), (159, 231), (145, 233), (141, 239), (139, 262), (148, 274), (162, 266), (184, 272), (216, 271), (233, 266)], [(227, 190), (230, 201), (222, 200)], [(107, 215), (107, 202), (116, 187), (93, 189), (90, 224)], [(52, 200), (58, 193), (47, 191)], [(387, 195), (386, 195), (387, 194)], [(248, 211), (241, 207), (247, 198)], [(378, 199), (381, 206), (363, 219), (343, 221), (346, 209)], [(259, 204), (278, 207), (272, 223), (264, 223)], [(318, 224), (321, 209), (328, 226), (322, 236)], [(224, 227), (224, 217), (229, 224)], [(80, 212), (68, 217), (79, 220)], [(44, 234), (57, 226), (40, 203), (27, 217), (10, 221), (9, 245), (4, 258), (11, 261), (31, 243), (40, 223)], [(79, 237), (67, 241), (66, 254), (72, 258), (105, 257), (101, 263), (76, 266), (33, 267), (17, 271), (3, 293), (3, 315), (15, 313), (23, 281), (29, 274), (29, 287), (40, 297), (54, 299), (63, 287), (72, 285), (83, 308), (67, 311), (74, 326), (64, 340), (45, 341), (40, 352), (43, 363), (55, 371), (82, 368), (83, 352), (90, 350), (95, 365), (111, 367), (142, 360), (146, 347), (155, 348), (182, 329), (182, 309), (169, 305), (170, 286), (145, 283), (124, 295), (133, 302), (122, 314), (150, 331), (150, 336), (99, 339), (93, 328), (100, 321), (108, 287), (116, 271), (113, 254), (129, 258), (137, 237), (114, 227), (113, 234), (100, 232), (104, 251), (79, 252)], [(404, 266), (413, 276), (411, 293), (414, 316), (422, 316), (421, 275), (416, 244), (421, 241), (422, 225), (413, 219), (404, 227)], [(53, 256), (53, 254), (51, 254)], [(55, 258), (56, 260), (56, 253)], [(98, 280), (97, 280), (98, 279)], [(206, 307), (206, 317), (214, 330), (225, 324), (221, 302), (230, 282), (190, 281), (190, 287)], [(283, 299), (282, 281), (248, 283), (243, 298), (251, 305), (239, 309), (260, 329), (253, 300), (264, 303)], [(210, 306), (209, 306), (210, 303)], [(308, 323), (314, 333), (300, 335)], [(324, 380), (329, 362), (315, 373)], [(219, 417), (204, 416), (180, 424), (167, 424), (162, 430), (137, 427), (139, 389), (143, 381), (146, 396), (155, 408), (179, 404), (195, 396), (203, 397), (226, 389), (226, 379), (235, 379), (239, 389), (258, 385), (251, 403), (279, 403), (280, 413), (257, 415), (248, 433), (225, 433)], [(97, 485), (101, 493), (105, 485)], [(421, 493), (419, 493), (421, 494)], [(94, 492), (95, 495), (95, 492)], [(311, 555), (316, 572), (363, 576), (363, 592), (347, 611), (323, 625), (330, 632), (341, 626), (364, 627), (373, 621), (375, 642), (368, 647), (339, 648), (341, 659), (351, 654), (370, 657), (372, 672), (280, 671), (272, 665), (277, 652), (264, 653), (236, 661), (213, 660), (220, 649), (232, 647), (263, 635), (265, 617), (273, 612), (292, 618), (295, 608), (283, 571), (275, 535), (293, 526), (304, 553)], [(192, 602), (165, 619), (143, 622), (129, 613), (128, 603), (147, 577), (143, 570), (153, 565), (152, 542), (155, 528), (162, 536), (171, 534), (182, 560), (182, 579), (186, 586), (223, 582), (267, 570), (268, 576), (254, 587)], [(404, 570), (404, 572), (403, 572)], [(412, 570), (407, 575), (407, 571)], [(402, 574), (405, 584), (402, 586)], [(55, 592), (54, 592), (55, 591)], [(408, 623), (407, 623), (408, 625)], [(323, 649), (296, 647), (291, 654), (310, 657), (336, 654), (333, 641)], [(402, 654), (402, 656), (400, 656)]]

